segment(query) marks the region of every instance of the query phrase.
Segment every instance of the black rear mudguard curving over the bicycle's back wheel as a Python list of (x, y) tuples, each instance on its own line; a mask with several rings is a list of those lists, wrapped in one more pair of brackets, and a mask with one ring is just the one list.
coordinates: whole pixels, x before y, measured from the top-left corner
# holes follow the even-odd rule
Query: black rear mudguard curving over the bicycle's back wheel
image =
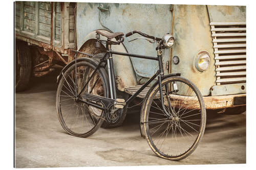
[[(97, 55), (100, 55), (101, 57), (103, 57), (103, 55), (105, 55), (105, 53), (100, 53)], [(67, 64), (64, 68), (62, 68), (62, 70), (60, 71), (60, 73), (57, 77), (57, 84), (59, 84), (59, 80), (62, 77), (62, 72), (65, 72), (71, 65), (73, 65), (75, 62), (79, 62), (79, 61), (88, 61), (91, 64), (95, 65), (96, 67), (99, 65), (99, 61), (92, 59), (92, 58), (88, 58), (88, 57), (77, 58), (77, 59), (71, 61), (69, 64)]]

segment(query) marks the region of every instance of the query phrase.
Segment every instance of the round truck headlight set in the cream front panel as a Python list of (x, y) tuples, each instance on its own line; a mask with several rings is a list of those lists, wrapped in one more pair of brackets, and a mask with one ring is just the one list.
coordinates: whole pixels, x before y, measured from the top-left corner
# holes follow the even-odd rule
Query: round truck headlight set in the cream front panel
[(207, 68), (209, 68), (210, 65), (210, 56), (207, 52), (201, 52), (199, 53), (199, 55), (197, 56), (197, 59), (195, 60), (195, 66), (196, 68), (203, 72), (205, 71)]

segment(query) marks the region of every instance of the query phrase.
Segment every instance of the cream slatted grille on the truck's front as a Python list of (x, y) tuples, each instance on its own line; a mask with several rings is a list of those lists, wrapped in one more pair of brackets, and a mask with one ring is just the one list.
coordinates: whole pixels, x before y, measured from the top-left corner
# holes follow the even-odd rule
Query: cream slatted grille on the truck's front
[(216, 84), (246, 82), (246, 22), (210, 22)]

